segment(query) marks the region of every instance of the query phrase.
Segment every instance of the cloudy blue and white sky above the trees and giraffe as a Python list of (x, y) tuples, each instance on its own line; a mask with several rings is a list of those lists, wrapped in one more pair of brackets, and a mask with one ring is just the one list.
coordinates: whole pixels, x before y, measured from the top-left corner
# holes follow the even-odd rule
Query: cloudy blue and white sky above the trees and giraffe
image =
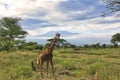
[(0, 0), (0, 18), (22, 18), (25, 40), (39, 44), (56, 33), (76, 45), (109, 44), (120, 32), (120, 17), (102, 17), (106, 10), (102, 0)]

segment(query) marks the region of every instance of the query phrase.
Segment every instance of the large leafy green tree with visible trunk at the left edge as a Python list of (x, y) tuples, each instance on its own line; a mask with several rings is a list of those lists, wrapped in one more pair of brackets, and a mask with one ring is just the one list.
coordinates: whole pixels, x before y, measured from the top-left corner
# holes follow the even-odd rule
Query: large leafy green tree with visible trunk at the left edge
[(4, 17), (0, 20), (0, 36), (4, 39), (6, 50), (9, 51), (15, 39), (24, 38), (27, 34), (19, 24), (20, 18)]

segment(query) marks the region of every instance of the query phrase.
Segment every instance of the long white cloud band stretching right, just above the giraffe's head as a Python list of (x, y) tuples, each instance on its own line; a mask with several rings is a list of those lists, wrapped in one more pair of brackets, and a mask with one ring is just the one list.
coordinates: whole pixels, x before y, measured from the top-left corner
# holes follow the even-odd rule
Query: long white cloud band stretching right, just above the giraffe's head
[[(106, 19), (112, 19), (112, 18), (106, 18)], [(96, 21), (98, 18), (96, 19)], [(101, 18), (99, 18), (101, 20)], [(91, 20), (92, 21), (92, 20)], [(39, 29), (34, 29), (34, 30), (28, 30), (29, 35), (31, 36), (40, 36), (43, 34), (46, 34), (48, 32), (52, 31), (67, 31), (67, 32), (75, 32), (79, 34), (71, 35), (71, 36), (66, 36), (64, 38), (66, 39), (75, 39), (75, 38), (81, 38), (81, 37), (105, 37), (106, 35), (111, 36), (115, 34), (116, 32), (120, 31), (119, 25), (120, 23), (112, 23), (112, 24), (98, 24), (96, 22), (90, 23), (91, 21), (70, 21), (70, 22), (64, 22), (63, 24), (60, 23), (60, 26), (56, 27), (41, 27)], [(95, 21), (95, 19), (93, 20)], [(112, 30), (116, 28), (116, 30)], [(110, 30), (110, 31), (107, 31)], [(94, 31), (98, 31), (97, 33)], [(104, 33), (103, 33), (103, 32)]]

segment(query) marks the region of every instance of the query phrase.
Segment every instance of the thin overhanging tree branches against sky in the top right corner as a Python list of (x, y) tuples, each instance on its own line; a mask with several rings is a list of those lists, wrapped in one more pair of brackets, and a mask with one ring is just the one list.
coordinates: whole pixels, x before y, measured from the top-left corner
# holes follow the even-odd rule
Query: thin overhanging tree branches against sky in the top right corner
[(104, 13), (104, 15), (109, 13), (117, 13), (117, 16), (120, 16), (120, 0), (103, 0), (103, 1), (106, 3), (106, 8), (108, 11)]

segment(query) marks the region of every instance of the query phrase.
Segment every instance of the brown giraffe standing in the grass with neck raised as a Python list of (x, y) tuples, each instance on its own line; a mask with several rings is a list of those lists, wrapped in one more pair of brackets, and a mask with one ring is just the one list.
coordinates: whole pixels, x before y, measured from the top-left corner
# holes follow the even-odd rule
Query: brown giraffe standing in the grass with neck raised
[(47, 47), (44, 51), (42, 51), (41, 53), (39, 53), (37, 55), (37, 66), (34, 67), (33, 66), (33, 62), (31, 63), (32, 64), (32, 67), (35, 71), (39, 71), (40, 70), (40, 73), (41, 73), (41, 77), (43, 78), (43, 73), (42, 73), (42, 66), (44, 64), (44, 62), (46, 62), (46, 68), (47, 68), (47, 77), (48, 77), (48, 67), (49, 67), (49, 63), (51, 64), (52, 66), (52, 74), (53, 74), (53, 77), (55, 78), (55, 75), (54, 75), (54, 66), (53, 66), (53, 61), (52, 61), (52, 58), (53, 58), (53, 54), (52, 54), (52, 51), (54, 49), (54, 46), (55, 46), (55, 43), (57, 42), (57, 40), (60, 39), (60, 34), (57, 33), (54, 37), (54, 39), (52, 40), (51, 44), (49, 47)]

